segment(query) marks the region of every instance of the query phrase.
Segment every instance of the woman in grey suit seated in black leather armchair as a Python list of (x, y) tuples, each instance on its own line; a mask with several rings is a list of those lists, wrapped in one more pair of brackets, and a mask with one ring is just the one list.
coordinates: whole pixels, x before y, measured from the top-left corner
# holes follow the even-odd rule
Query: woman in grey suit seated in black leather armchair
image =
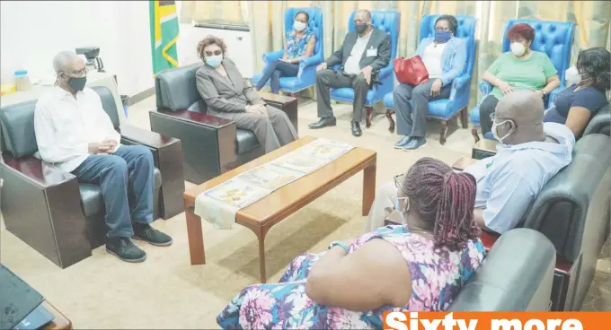
[(297, 139), (287, 114), (265, 104), (244, 82), (235, 63), (225, 56), (223, 39), (208, 36), (199, 41), (198, 54), (204, 64), (195, 79), (210, 115), (234, 120), (237, 128), (252, 131), (266, 153)]

